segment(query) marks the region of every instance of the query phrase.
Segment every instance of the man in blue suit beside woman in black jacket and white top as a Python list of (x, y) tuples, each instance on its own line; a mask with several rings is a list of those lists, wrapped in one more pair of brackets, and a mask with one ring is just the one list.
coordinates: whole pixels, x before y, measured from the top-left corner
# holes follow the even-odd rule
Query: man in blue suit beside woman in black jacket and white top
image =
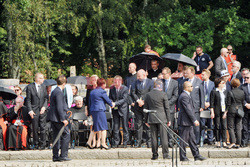
[[(202, 87), (204, 89), (204, 95), (205, 95), (205, 111), (210, 111), (210, 93), (214, 89), (214, 82), (211, 81), (209, 78), (211, 76), (211, 72), (207, 69), (204, 69), (201, 73), (202, 77)], [(209, 114), (211, 115), (211, 114)], [(205, 140), (205, 127), (207, 126), (207, 139), (208, 139), (208, 145), (213, 144), (213, 120), (211, 118), (201, 118), (201, 144), (203, 145), (203, 142)]]

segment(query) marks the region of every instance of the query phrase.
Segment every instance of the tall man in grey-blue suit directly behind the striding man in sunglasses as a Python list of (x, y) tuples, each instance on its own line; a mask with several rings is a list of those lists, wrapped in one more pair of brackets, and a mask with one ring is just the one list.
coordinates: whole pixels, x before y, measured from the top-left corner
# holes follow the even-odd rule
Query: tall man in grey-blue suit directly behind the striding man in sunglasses
[[(193, 100), (194, 110), (196, 119), (200, 122), (200, 112), (205, 108), (205, 95), (204, 88), (202, 87), (202, 81), (199, 78), (195, 77), (195, 69), (189, 67), (187, 69), (188, 81), (192, 83), (193, 91), (190, 93), (190, 96)], [(196, 137), (196, 143), (200, 143), (200, 126), (194, 127), (194, 134)]]

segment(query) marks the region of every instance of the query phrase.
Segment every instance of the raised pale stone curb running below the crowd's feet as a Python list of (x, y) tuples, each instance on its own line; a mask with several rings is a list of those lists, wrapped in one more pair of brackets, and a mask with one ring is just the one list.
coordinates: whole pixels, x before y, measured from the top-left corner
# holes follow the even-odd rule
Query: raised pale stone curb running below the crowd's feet
[[(200, 154), (208, 158), (249, 158), (250, 148), (240, 149), (218, 149), (200, 148)], [(172, 155), (170, 149), (169, 155)], [(72, 159), (150, 159), (152, 156), (150, 148), (116, 148), (110, 150), (87, 149), (78, 147), (69, 150)], [(5, 160), (50, 160), (52, 150), (25, 150), (25, 151), (0, 151), (0, 161)], [(162, 157), (161, 148), (159, 157)], [(178, 154), (179, 157), (179, 154)], [(193, 159), (191, 151), (187, 148), (187, 157)]]

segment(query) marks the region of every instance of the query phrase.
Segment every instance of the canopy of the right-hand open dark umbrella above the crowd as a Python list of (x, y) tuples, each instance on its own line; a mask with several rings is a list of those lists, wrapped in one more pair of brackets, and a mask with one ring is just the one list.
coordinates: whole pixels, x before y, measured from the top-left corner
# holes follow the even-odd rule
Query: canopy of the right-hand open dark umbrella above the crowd
[(196, 62), (193, 59), (191, 59), (191, 58), (189, 58), (181, 53), (167, 53), (161, 57), (164, 59), (174, 60), (174, 61), (188, 64), (191, 66), (195, 66), (195, 67), (197, 66)]

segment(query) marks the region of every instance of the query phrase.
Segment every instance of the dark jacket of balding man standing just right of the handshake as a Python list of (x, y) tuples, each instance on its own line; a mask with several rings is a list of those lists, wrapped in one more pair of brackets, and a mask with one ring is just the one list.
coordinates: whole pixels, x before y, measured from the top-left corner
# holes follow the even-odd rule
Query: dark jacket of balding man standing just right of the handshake
[[(131, 92), (133, 101), (136, 102), (140, 98), (144, 100), (146, 94), (150, 92), (153, 88), (154, 88), (154, 81), (152, 81), (151, 79), (146, 78), (144, 89), (140, 88), (140, 81), (136, 80), (136, 82), (134, 82), (134, 85), (132, 86), (132, 92)], [(134, 109), (142, 110), (142, 107), (139, 107), (136, 103)]]

